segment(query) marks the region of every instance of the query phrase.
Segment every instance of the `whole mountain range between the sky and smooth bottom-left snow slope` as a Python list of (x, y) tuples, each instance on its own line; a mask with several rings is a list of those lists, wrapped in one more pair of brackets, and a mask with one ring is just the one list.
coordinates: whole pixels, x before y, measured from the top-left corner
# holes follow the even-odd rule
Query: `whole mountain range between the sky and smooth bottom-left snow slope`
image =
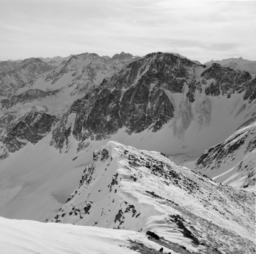
[(136, 231), (141, 242), (125, 248), (141, 253), (253, 253), (256, 78), (239, 67), (249, 62), (1, 62), (0, 216)]

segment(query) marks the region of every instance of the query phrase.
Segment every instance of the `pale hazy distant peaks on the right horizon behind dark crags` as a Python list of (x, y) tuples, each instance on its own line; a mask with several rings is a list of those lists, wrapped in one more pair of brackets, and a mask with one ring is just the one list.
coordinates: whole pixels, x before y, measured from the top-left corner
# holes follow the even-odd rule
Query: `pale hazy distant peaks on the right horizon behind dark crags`
[(211, 60), (206, 62), (206, 66), (210, 66), (213, 63), (221, 64), (221, 66), (230, 67), (233, 69), (240, 69), (242, 71), (248, 71), (248, 73), (256, 74), (256, 61), (250, 61), (243, 58), (228, 58), (223, 60)]

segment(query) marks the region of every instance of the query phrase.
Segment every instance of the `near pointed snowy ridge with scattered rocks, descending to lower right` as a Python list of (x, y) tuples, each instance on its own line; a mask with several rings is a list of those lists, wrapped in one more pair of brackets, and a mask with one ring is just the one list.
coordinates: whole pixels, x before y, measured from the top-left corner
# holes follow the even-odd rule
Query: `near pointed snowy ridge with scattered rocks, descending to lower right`
[(218, 185), (158, 152), (113, 141), (95, 151), (83, 173), (51, 221), (150, 230), (190, 251), (253, 250), (254, 193)]

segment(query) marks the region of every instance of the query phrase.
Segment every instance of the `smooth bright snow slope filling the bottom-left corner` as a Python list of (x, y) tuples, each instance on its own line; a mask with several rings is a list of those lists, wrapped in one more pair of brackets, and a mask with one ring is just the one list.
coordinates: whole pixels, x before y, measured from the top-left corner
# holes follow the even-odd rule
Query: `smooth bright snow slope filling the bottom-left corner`
[[(129, 254), (131, 240), (159, 250), (144, 233), (92, 226), (58, 225), (0, 217), (1, 254)], [(168, 253), (164, 247), (164, 253)], [(158, 252), (158, 251), (157, 251)], [(151, 252), (152, 253), (152, 252)], [(172, 251), (171, 253), (177, 253)]]

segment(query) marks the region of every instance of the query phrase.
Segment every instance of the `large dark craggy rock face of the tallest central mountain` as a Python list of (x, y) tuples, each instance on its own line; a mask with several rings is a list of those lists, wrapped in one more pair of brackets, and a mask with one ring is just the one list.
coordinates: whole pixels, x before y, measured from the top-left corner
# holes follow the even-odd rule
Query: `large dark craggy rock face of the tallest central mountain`
[(191, 102), (195, 90), (201, 92), (196, 68), (200, 66), (166, 53), (152, 53), (133, 61), (73, 103), (54, 131), (51, 145), (63, 147), (70, 113), (77, 114), (73, 135), (80, 141), (102, 140), (120, 128), (129, 134), (147, 128), (159, 130), (174, 116), (174, 106), (166, 91), (183, 93), (184, 84), (188, 84), (187, 97)]

